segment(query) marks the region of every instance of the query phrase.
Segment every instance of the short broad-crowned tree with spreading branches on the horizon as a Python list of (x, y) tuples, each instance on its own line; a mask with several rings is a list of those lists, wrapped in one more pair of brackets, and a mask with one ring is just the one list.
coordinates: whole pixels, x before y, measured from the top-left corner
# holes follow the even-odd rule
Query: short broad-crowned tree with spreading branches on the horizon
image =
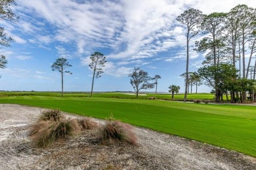
[(140, 90), (154, 88), (154, 83), (150, 82), (152, 78), (148, 76), (148, 72), (141, 70), (140, 68), (135, 68), (133, 73), (128, 76), (130, 77), (131, 86), (133, 86), (137, 97)]

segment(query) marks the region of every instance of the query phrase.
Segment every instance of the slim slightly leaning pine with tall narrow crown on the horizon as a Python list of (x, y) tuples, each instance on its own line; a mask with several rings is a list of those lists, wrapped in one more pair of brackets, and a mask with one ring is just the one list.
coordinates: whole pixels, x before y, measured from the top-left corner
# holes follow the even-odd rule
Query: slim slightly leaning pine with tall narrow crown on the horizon
[(106, 57), (104, 57), (104, 54), (101, 54), (100, 52), (95, 52), (95, 54), (91, 54), (91, 63), (89, 64), (89, 67), (93, 69), (93, 82), (91, 84), (91, 97), (93, 96), (93, 84), (96, 78), (100, 78), (101, 74), (104, 73), (102, 68), (99, 67), (105, 67), (106, 63)]

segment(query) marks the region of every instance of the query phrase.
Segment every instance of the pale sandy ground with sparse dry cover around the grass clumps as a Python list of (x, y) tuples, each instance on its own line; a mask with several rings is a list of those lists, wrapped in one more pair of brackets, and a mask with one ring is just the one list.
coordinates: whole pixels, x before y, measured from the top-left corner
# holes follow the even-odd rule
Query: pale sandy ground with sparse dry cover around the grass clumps
[(33, 148), (28, 129), (42, 110), (0, 105), (0, 169), (256, 169), (256, 158), (139, 127), (139, 146), (104, 146), (85, 131)]

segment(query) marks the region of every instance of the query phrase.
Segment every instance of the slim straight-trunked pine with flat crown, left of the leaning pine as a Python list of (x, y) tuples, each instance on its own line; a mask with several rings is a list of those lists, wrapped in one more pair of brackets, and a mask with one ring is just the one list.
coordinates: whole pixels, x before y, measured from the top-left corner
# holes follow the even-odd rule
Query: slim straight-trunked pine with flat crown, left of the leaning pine
[(65, 58), (58, 58), (51, 66), (52, 71), (58, 71), (61, 73), (61, 96), (63, 96), (63, 76), (64, 73), (72, 75), (70, 71), (66, 71), (68, 67), (72, 67)]

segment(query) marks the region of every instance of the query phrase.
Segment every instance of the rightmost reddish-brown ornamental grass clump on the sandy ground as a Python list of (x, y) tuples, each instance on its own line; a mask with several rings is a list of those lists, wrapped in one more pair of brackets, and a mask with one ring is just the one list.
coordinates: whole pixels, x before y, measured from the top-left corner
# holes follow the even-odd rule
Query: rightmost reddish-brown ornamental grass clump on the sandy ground
[(100, 140), (102, 143), (123, 141), (129, 144), (137, 144), (137, 137), (130, 124), (112, 120), (106, 120), (106, 124), (100, 128)]

